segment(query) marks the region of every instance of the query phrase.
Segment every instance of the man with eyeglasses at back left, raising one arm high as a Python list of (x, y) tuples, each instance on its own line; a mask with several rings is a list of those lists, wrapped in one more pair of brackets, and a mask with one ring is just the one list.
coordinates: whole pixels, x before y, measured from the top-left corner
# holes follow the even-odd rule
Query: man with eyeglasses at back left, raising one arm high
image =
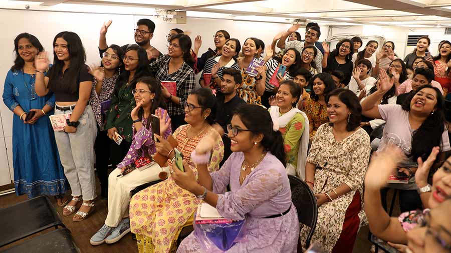
[[(100, 29), (100, 38), (99, 38), (99, 53), (100, 57), (103, 57), (103, 53), (108, 48), (108, 44), (106, 42), (106, 33), (108, 32), (108, 27), (110, 27), (113, 20), (109, 20), (104, 23), (102, 28)], [(142, 48), (144, 48), (147, 52), (147, 57), (149, 61), (155, 60), (158, 56), (161, 55), (161, 52), (158, 51), (155, 47), (150, 45), (150, 39), (153, 37), (153, 31), (155, 30), (155, 23), (147, 18), (139, 19), (136, 22), (135, 29), (135, 42)], [(124, 51), (130, 44), (125, 44), (122, 46)]]

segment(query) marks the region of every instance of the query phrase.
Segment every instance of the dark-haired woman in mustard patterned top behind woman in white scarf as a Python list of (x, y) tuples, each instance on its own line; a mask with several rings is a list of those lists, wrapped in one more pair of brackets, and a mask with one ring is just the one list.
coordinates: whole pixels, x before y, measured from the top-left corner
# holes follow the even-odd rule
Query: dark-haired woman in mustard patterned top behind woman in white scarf
[(330, 74), (319, 73), (313, 76), (313, 92), (305, 101), (304, 111), (309, 118), (310, 141), (319, 126), (328, 122), (326, 96), (335, 89), (335, 83)]

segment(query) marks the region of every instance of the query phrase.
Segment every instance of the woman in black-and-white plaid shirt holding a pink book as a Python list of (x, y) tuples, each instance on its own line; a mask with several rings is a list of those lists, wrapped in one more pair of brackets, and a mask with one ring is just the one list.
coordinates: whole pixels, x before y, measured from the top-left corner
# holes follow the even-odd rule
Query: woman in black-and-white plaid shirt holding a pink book
[[(167, 111), (171, 116), (172, 129), (186, 123), (183, 104), (195, 87), (194, 59), (190, 53), (191, 39), (185, 34), (171, 37), (168, 53), (161, 55), (150, 64), (150, 70), (162, 84), (163, 97), (167, 100)], [(175, 92), (170, 93), (165, 83), (175, 82)], [(169, 85), (169, 84), (167, 84)]]

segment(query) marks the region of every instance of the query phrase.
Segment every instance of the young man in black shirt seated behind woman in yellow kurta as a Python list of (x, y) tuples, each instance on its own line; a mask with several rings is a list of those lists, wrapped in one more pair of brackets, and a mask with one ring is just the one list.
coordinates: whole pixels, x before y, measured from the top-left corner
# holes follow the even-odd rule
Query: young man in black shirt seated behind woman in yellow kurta
[(230, 139), (224, 135), (227, 132), (227, 124), (230, 124), (235, 109), (246, 103), (237, 95), (237, 88), (241, 85), (241, 82), (240, 70), (224, 68), (222, 71), (222, 82), (220, 84), (221, 93), (216, 96), (216, 123), (213, 125), (222, 136), (222, 142), (224, 142), (224, 158), (220, 162), (220, 165), (232, 154), (230, 150)]

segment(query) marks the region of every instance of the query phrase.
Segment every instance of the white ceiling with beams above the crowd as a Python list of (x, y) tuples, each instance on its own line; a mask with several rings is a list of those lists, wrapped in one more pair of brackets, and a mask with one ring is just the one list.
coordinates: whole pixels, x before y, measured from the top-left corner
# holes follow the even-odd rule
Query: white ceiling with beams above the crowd
[[(322, 25), (451, 26), (451, 0), (0, 0), (0, 8), (124, 14), (187, 11), (188, 17)], [(98, 7), (101, 6), (101, 7)]]

